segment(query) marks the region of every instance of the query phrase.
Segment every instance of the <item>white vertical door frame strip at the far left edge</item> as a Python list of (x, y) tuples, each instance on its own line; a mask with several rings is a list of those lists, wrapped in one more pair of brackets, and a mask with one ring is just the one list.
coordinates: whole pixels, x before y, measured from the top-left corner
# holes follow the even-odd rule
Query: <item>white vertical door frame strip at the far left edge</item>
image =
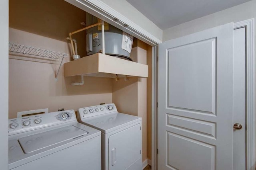
[(1, 107), (1, 124), (0, 124), (0, 167), (2, 170), (8, 169), (8, 41), (9, 41), (9, 2), (8, 0), (0, 1), (0, 107)]

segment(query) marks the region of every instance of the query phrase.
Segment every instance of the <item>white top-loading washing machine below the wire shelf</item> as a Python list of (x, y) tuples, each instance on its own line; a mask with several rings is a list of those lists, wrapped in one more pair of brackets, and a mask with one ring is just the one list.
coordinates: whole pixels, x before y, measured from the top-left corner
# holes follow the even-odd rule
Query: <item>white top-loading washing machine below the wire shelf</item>
[(74, 110), (9, 119), (9, 170), (101, 170), (100, 135)]

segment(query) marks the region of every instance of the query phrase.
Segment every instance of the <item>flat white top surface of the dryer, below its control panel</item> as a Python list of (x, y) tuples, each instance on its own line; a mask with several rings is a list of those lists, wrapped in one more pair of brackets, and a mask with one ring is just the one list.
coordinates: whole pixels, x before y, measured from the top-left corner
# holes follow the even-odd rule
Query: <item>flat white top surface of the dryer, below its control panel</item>
[(82, 119), (82, 122), (102, 131), (103, 133), (109, 133), (140, 120), (141, 117), (114, 112), (85, 118)]

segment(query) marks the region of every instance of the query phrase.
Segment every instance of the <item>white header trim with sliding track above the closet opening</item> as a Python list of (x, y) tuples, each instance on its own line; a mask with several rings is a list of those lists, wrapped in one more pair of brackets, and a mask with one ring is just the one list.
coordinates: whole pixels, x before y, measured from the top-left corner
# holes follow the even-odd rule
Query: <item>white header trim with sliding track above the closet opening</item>
[[(113, 8), (103, 3), (101, 0), (65, 0), (70, 4), (122, 29), (123, 31), (138, 37), (140, 40), (145, 41), (150, 45), (158, 45), (162, 43), (160, 39), (150, 34), (148, 31), (138, 26)], [(118, 21), (113, 19), (117, 18)], [(124, 25), (128, 25), (124, 27)]]

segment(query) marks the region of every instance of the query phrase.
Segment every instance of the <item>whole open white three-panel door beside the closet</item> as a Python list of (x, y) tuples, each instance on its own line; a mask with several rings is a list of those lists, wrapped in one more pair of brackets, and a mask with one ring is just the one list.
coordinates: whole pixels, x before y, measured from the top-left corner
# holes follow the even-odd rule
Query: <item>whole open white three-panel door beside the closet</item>
[(233, 169), (233, 23), (159, 45), (158, 170)]

